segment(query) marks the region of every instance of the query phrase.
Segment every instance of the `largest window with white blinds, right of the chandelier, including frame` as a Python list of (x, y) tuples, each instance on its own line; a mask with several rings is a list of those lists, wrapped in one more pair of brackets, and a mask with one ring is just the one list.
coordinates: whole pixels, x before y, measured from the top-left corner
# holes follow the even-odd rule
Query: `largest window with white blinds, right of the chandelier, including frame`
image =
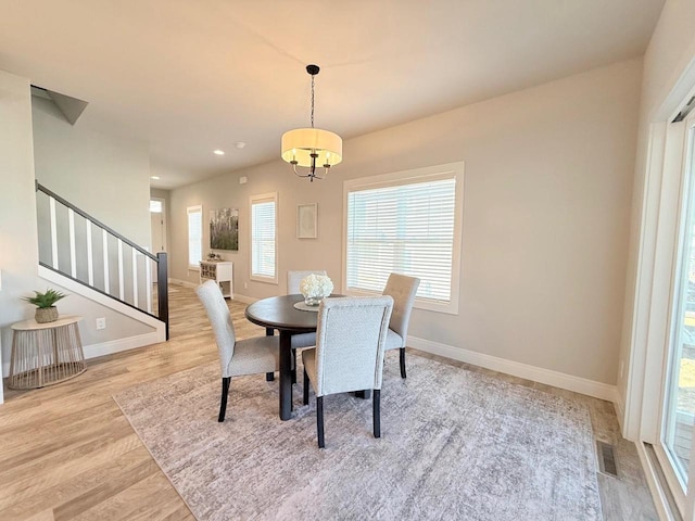
[(463, 163), (345, 182), (345, 291), (417, 277), (416, 307), (458, 313)]

